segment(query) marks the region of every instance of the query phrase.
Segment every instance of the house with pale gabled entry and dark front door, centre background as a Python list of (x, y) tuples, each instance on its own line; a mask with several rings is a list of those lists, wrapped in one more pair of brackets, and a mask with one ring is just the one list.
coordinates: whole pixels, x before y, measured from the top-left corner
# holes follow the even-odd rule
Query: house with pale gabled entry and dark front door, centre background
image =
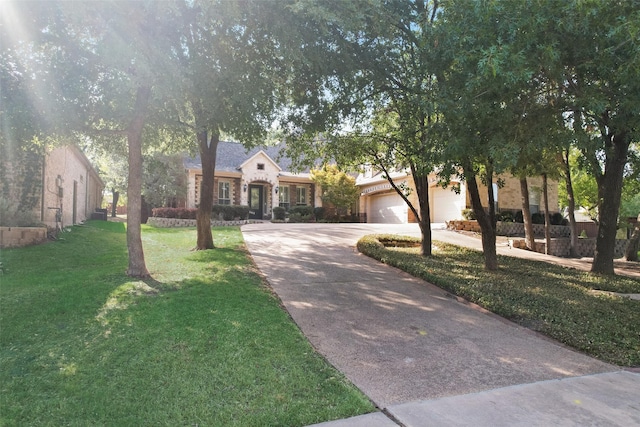
[[(251, 219), (271, 218), (281, 206), (322, 206), (316, 185), (308, 172), (291, 172), (291, 160), (280, 156), (282, 146), (246, 150), (242, 144), (220, 141), (216, 152), (213, 203), (249, 206)], [(188, 175), (186, 206), (200, 201), (202, 163), (200, 157), (185, 160)]]

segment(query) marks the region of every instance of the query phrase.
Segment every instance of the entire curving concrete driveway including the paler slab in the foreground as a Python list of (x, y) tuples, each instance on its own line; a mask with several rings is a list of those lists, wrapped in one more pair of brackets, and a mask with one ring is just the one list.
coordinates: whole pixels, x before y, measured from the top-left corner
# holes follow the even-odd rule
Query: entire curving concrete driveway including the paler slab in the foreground
[[(365, 234), (419, 235), (417, 227), (242, 230), (303, 333), (384, 410), (324, 426), (640, 425), (640, 375), (461, 303), (354, 248)], [(478, 242), (434, 231), (434, 239), (450, 233), (457, 244)]]

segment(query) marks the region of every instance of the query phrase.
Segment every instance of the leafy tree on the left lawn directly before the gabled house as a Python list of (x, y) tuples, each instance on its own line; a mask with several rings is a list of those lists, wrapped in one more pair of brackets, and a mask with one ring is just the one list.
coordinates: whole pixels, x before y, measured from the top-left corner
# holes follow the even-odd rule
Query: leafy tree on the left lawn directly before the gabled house
[[(183, 76), (181, 115), (202, 161), (196, 249), (214, 247), (210, 218), (213, 175), (221, 135), (245, 146), (264, 142), (285, 101), (318, 90), (325, 59), (317, 27), (295, 2), (184, 1), (175, 46)], [(293, 96), (289, 96), (293, 95)]]

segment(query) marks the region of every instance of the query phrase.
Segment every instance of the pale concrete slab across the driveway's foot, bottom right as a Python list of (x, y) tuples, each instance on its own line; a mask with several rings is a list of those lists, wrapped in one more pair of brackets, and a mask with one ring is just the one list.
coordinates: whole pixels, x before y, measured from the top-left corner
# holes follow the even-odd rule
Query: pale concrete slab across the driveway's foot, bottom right
[[(640, 375), (614, 372), (393, 405), (316, 427), (638, 426)], [(395, 421), (394, 421), (395, 420)]]

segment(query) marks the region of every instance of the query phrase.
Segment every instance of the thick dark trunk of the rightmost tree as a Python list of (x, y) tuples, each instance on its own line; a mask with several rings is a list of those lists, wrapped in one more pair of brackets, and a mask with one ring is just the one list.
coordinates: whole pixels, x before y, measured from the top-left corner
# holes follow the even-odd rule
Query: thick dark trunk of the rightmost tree
[(618, 212), (622, 197), (622, 176), (629, 154), (630, 138), (626, 134), (609, 134), (604, 174), (598, 179), (598, 237), (591, 271), (613, 275)]

